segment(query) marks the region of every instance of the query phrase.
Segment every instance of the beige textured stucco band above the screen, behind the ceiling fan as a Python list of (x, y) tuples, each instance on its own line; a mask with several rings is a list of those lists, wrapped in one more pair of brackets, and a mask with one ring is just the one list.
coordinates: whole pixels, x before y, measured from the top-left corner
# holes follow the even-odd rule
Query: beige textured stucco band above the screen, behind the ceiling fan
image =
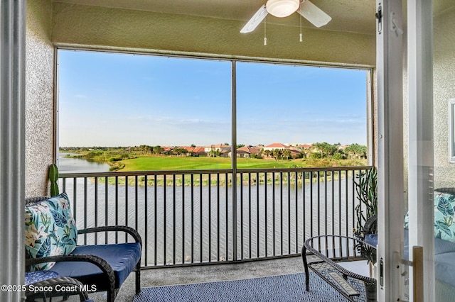
[(240, 34), (242, 21), (55, 2), (53, 43), (125, 50), (375, 65), (375, 35), (267, 25)]

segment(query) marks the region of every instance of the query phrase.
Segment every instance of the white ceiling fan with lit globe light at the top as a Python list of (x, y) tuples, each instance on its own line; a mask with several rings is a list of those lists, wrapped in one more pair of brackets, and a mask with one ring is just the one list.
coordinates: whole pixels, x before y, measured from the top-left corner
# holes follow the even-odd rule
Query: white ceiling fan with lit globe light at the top
[(301, 16), (313, 23), (316, 27), (325, 26), (332, 20), (331, 16), (328, 16), (328, 14), (324, 13), (309, 0), (267, 0), (267, 3), (261, 6), (259, 11), (240, 30), (240, 33), (250, 33), (255, 30), (269, 13), (272, 16), (284, 18), (294, 12), (300, 13)]

